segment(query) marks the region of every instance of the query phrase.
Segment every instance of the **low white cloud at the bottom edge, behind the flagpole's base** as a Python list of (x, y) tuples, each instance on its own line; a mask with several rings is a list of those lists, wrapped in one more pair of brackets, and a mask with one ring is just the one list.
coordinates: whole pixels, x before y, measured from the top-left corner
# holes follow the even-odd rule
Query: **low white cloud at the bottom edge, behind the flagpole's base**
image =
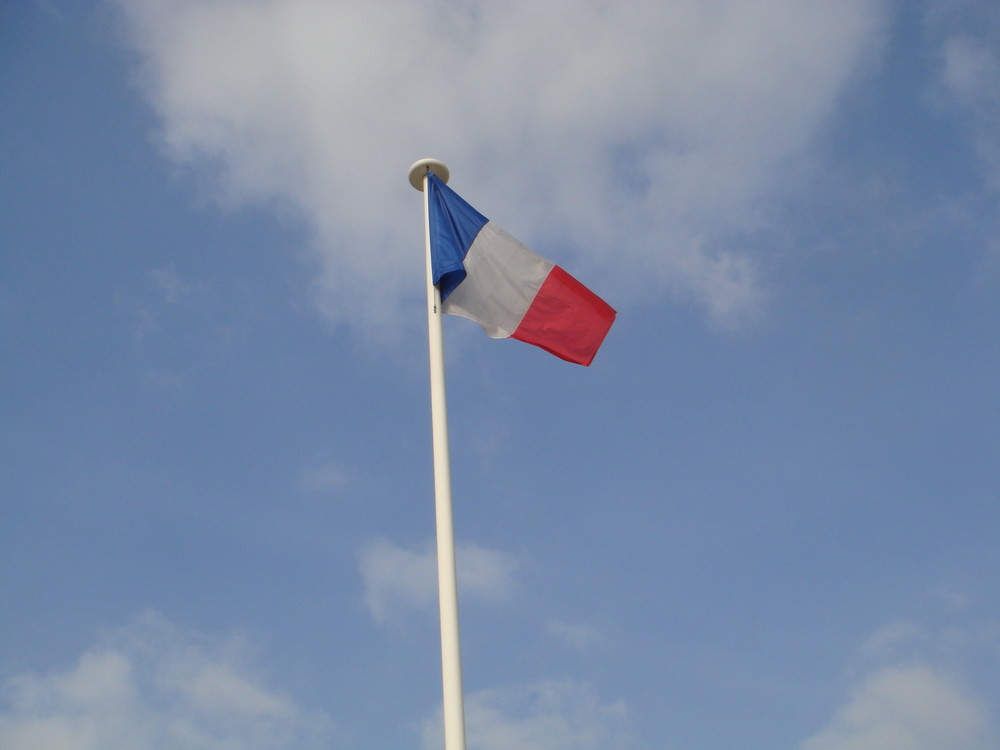
[[(470, 750), (619, 750), (631, 746), (628, 709), (603, 703), (594, 689), (571, 681), (483, 690), (465, 701)], [(442, 746), (440, 713), (425, 722), (423, 746)]]

